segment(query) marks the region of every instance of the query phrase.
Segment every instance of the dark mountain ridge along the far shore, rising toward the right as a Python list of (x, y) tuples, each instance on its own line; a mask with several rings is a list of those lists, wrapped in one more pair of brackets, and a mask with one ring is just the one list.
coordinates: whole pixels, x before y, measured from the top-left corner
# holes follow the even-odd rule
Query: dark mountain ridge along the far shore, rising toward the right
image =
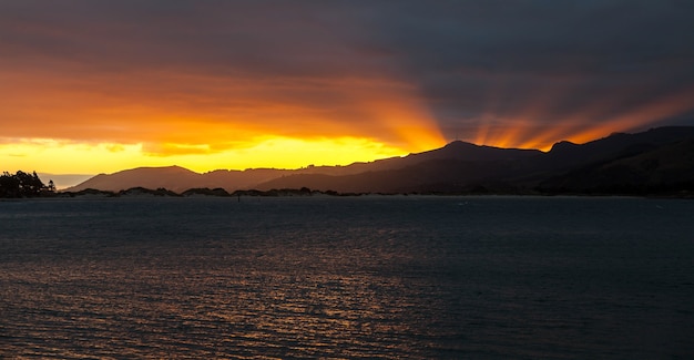
[(662, 193), (694, 191), (694, 126), (615, 133), (585, 144), (559, 142), (550, 152), (479, 146), (460, 141), (423, 153), (347, 166), (258, 168), (198, 174), (178, 166), (100, 174), (69, 188), (132, 187), (339, 193)]

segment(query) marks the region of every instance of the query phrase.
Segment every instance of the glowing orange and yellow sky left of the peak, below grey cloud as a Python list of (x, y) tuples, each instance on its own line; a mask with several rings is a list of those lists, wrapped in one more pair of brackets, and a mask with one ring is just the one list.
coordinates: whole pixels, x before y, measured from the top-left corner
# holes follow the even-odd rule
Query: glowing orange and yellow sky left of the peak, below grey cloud
[(388, 79), (243, 79), (176, 72), (74, 79), (0, 70), (10, 168), (115, 172), (336, 165), (446, 141), (415, 89)]

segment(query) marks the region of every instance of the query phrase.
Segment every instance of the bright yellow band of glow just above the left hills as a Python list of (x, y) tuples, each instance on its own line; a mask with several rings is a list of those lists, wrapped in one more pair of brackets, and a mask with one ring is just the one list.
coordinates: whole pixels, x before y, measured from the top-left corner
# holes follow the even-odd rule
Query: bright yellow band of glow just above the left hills
[[(141, 166), (178, 165), (194, 172), (253, 167), (299, 168), (308, 165), (348, 165), (408, 152), (369, 138), (299, 140), (266, 137), (244, 147), (222, 151), (207, 145), (156, 144), (166, 153), (150, 152), (147, 144), (74, 143), (30, 138), (0, 144), (2, 171), (53, 174), (114, 173)], [(191, 147), (195, 147), (192, 151)], [(175, 148), (183, 148), (176, 154)]]

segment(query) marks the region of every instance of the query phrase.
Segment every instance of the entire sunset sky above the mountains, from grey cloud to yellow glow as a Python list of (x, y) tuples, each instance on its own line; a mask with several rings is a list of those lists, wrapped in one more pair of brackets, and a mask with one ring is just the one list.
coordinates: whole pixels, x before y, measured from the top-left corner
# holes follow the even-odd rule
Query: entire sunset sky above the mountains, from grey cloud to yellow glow
[(694, 1), (0, 0), (0, 171), (346, 165), (694, 125)]

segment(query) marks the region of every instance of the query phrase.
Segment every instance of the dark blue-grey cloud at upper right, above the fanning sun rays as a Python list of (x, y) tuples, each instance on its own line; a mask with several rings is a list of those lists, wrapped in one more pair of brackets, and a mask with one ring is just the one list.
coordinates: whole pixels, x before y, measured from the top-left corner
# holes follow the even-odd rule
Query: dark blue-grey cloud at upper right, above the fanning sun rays
[(693, 20), (685, 2), (455, 2), (396, 12), (380, 37), (442, 122), (511, 116), (543, 97), (554, 102), (539, 115), (561, 121), (605, 97), (631, 107), (691, 93)]

